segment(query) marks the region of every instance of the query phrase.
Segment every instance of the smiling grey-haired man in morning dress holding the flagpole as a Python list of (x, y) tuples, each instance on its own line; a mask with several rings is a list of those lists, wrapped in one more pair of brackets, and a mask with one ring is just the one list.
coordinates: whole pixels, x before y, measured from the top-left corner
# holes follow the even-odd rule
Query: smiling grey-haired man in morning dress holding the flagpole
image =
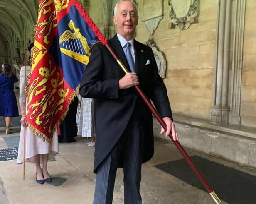
[(112, 203), (118, 167), (123, 167), (125, 204), (141, 204), (141, 164), (154, 154), (153, 122), (134, 86), (140, 85), (155, 104), (167, 124), (166, 136), (171, 132), (173, 139), (178, 137), (152, 49), (134, 39), (137, 6), (130, 0), (119, 1), (113, 20), (118, 33), (108, 42), (130, 73), (124, 74), (108, 50), (96, 43), (79, 90), (81, 96), (95, 98), (94, 204)]

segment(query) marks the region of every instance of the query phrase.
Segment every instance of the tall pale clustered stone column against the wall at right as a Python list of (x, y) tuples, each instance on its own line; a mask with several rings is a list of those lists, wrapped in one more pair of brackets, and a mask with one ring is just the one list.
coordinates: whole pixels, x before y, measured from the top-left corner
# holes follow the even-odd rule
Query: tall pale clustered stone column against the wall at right
[(211, 122), (218, 125), (240, 124), (245, 1), (219, 0), (211, 114)]

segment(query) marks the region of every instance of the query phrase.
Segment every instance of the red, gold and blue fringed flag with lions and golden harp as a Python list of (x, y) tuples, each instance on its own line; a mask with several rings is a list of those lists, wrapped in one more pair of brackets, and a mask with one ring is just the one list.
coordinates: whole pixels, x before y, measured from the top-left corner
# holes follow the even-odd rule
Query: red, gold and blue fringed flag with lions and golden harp
[(26, 121), (48, 143), (78, 94), (90, 47), (98, 41), (90, 20), (77, 0), (39, 0)]

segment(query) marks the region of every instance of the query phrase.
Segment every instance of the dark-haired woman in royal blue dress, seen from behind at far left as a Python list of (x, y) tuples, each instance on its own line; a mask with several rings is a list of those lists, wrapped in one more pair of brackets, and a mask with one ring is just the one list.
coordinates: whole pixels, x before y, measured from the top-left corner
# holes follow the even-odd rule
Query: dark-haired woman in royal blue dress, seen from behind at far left
[(18, 79), (7, 63), (2, 65), (0, 73), (0, 116), (3, 117), (6, 125), (6, 134), (12, 134), (10, 131), (11, 117), (19, 116), (16, 96), (13, 91), (13, 84)]

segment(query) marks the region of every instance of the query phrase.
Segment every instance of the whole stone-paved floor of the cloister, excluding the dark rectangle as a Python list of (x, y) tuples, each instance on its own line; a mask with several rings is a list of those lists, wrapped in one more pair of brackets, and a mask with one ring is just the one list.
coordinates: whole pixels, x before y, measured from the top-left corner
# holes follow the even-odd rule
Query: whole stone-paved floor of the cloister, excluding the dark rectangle
[[(0, 127), (0, 149), (13, 147), (15, 143), (17, 146), (20, 127), (12, 127), (12, 132), (13, 134), (5, 135), (5, 128)], [(92, 204), (96, 179), (96, 175), (92, 172), (94, 147), (86, 145), (90, 141), (89, 138), (76, 138), (77, 142), (59, 144), (59, 154), (49, 161), (49, 173), (54, 178), (52, 185), (46, 183), (39, 185), (35, 182), (35, 166), (32, 163), (26, 163), (25, 180), (22, 180), (22, 165), (17, 165), (16, 160), (0, 162), (0, 204)], [(194, 149), (185, 149), (190, 156), (207, 158), (245, 172), (253, 179), (256, 178), (254, 168), (240, 166)], [(143, 204), (214, 204), (204, 190), (155, 167), (180, 159), (182, 156), (173, 144), (155, 138), (155, 155), (142, 167), (140, 192)], [(219, 190), (214, 189), (216, 193)], [(222, 199), (227, 200), (225, 197)], [(256, 200), (249, 204), (255, 202)], [(113, 203), (123, 204), (122, 169), (118, 169), (116, 175)], [(228, 202), (222, 201), (222, 203)]]

